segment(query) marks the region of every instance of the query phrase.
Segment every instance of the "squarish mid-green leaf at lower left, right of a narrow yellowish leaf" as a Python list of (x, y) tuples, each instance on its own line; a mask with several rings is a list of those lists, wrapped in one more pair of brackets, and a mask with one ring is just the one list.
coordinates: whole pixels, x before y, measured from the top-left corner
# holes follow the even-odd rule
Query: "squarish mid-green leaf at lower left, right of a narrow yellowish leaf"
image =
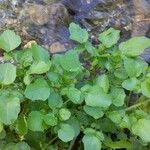
[(44, 131), (44, 115), (40, 111), (32, 111), (27, 119), (28, 128), (32, 131)]

